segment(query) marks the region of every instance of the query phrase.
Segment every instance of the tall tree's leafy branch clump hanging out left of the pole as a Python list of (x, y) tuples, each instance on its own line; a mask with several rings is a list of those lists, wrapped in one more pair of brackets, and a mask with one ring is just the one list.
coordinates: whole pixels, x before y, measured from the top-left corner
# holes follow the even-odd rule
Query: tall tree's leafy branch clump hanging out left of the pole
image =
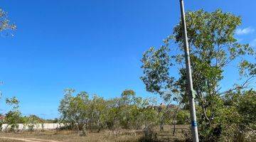
[(168, 100), (171, 96), (170, 89), (174, 81), (174, 77), (169, 76), (169, 67), (171, 66), (169, 56), (169, 40), (165, 40), (165, 45), (155, 50), (150, 48), (143, 54), (142, 68), (144, 76), (141, 77), (146, 90), (160, 94), (161, 97)]

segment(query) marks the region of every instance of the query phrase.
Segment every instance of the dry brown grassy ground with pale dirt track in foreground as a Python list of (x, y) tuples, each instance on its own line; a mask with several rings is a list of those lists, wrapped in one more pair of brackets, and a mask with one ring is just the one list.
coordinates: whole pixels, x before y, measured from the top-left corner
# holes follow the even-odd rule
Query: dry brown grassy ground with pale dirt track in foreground
[[(184, 141), (189, 133), (188, 126), (177, 126), (176, 134), (173, 136), (173, 127), (165, 126), (164, 131), (155, 129), (159, 141)], [(84, 142), (84, 141), (119, 141), (135, 142), (142, 141), (143, 131), (119, 130), (101, 131), (100, 133), (87, 133), (87, 136), (78, 136), (75, 131), (33, 131), (22, 133), (0, 133), (0, 141), (4, 142)]]

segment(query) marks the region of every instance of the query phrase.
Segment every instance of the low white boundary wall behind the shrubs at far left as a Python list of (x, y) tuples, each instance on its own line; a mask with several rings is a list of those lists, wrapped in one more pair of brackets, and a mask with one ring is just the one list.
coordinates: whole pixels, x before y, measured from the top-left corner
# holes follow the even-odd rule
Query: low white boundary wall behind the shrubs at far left
[[(29, 126), (31, 124), (18, 124), (18, 130), (28, 130)], [(33, 124), (34, 130), (53, 130), (58, 129), (60, 127), (64, 126), (64, 124)], [(2, 131), (6, 130), (8, 127), (8, 124), (2, 124)]]

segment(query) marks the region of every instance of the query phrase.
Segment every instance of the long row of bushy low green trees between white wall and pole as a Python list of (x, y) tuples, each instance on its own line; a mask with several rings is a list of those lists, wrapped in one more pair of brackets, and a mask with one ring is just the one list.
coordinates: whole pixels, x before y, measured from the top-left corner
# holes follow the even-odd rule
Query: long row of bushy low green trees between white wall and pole
[(74, 89), (65, 89), (60, 101), (61, 120), (78, 131), (101, 129), (139, 129), (157, 122), (157, 110), (151, 107), (154, 99), (136, 97), (133, 90), (127, 89), (121, 97), (105, 100), (97, 95), (89, 97), (81, 92), (73, 97)]

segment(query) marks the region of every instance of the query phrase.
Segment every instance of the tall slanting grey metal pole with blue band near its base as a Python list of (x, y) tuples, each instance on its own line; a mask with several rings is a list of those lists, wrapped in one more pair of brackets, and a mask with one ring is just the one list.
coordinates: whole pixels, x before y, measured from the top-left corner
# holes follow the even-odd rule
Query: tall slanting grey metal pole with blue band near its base
[(196, 107), (195, 107), (195, 97), (193, 95), (193, 82), (191, 75), (191, 63), (189, 58), (189, 49), (188, 49), (188, 35), (186, 31), (186, 18), (184, 11), (183, 0), (180, 0), (181, 6), (181, 21), (183, 24), (183, 41), (184, 41), (184, 52), (185, 52), (185, 60), (186, 60), (186, 76), (187, 76), (187, 84), (188, 84), (188, 95), (189, 95), (189, 104), (190, 104), (190, 114), (191, 114), (191, 131), (193, 136), (193, 142), (198, 142), (198, 128), (196, 123)]

